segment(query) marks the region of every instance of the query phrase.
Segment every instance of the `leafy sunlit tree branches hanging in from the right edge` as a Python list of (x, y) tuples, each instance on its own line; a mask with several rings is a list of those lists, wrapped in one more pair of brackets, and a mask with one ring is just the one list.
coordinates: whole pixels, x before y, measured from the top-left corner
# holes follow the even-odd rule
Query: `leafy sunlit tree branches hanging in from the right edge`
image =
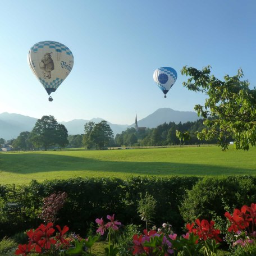
[[(231, 140), (236, 149), (248, 150), (256, 145), (256, 89), (249, 88), (249, 82), (241, 80), (243, 71), (235, 76), (224, 76), (224, 80), (211, 75), (211, 67), (197, 70), (183, 67), (181, 74), (190, 76), (183, 85), (194, 92), (208, 96), (204, 105), (196, 105), (198, 115), (205, 118), (203, 129), (196, 132), (198, 139), (211, 140), (217, 137), (222, 150), (228, 149)], [(207, 117), (212, 118), (207, 118)], [(181, 138), (188, 138), (188, 132), (177, 132)]]

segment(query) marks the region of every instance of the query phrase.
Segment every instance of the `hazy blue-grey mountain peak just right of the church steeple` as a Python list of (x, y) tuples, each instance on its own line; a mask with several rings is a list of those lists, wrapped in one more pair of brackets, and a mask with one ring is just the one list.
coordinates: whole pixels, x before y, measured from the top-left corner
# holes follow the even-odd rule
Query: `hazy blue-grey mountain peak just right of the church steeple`
[[(139, 127), (149, 127), (155, 128), (158, 125), (162, 125), (164, 122), (167, 124), (169, 122), (175, 122), (176, 124), (185, 123), (185, 122), (193, 122), (201, 117), (193, 111), (177, 111), (171, 108), (159, 108), (157, 111), (153, 112), (149, 116), (141, 119), (138, 121)], [(130, 125), (129, 127), (134, 126), (134, 124)]]

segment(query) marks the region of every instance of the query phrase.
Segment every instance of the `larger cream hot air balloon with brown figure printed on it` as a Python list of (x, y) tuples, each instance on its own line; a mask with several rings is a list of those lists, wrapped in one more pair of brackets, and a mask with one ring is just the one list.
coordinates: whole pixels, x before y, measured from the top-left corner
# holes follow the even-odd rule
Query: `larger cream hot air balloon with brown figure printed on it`
[[(64, 44), (43, 41), (33, 45), (28, 54), (31, 70), (50, 95), (55, 92), (74, 65), (74, 57)], [(52, 101), (49, 96), (49, 101)]]

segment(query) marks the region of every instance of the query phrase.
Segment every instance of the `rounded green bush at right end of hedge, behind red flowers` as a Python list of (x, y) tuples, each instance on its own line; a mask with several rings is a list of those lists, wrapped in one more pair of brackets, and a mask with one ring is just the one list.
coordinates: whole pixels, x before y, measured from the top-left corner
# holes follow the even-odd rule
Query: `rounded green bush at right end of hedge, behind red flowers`
[[(188, 190), (180, 205), (185, 222), (196, 218), (223, 217), (230, 209), (250, 205), (256, 200), (256, 179), (249, 176), (206, 177)], [(223, 217), (224, 218), (224, 217)]]

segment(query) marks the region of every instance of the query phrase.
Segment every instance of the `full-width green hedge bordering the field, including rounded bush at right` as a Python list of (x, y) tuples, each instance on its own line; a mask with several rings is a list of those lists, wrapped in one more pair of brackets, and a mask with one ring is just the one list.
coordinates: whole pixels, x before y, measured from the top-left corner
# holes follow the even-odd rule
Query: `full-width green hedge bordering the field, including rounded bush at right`
[[(143, 225), (137, 213), (140, 193), (146, 192), (157, 200), (154, 224), (171, 223), (179, 231), (187, 221), (196, 217), (211, 218), (212, 212), (222, 216), (225, 205), (241, 207), (256, 202), (256, 178), (235, 177), (129, 177), (74, 178), (51, 180), (29, 185), (0, 185), (0, 236), (12, 235), (31, 227), (42, 220), (38, 214), (43, 198), (53, 192), (65, 191), (68, 198), (58, 213), (57, 224), (85, 235), (95, 218), (105, 218), (115, 213), (124, 224)], [(1, 203), (2, 202), (2, 203)]]

